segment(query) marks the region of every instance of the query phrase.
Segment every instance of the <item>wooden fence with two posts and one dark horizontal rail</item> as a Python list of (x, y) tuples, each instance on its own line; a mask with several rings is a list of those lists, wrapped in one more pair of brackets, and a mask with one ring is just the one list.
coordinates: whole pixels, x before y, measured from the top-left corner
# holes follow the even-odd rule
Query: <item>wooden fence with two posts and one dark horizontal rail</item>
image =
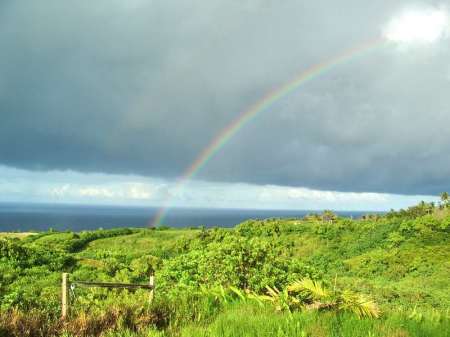
[(71, 286), (80, 287), (97, 287), (97, 288), (122, 288), (122, 289), (149, 289), (149, 302), (153, 300), (155, 296), (155, 276), (150, 275), (148, 284), (130, 284), (130, 283), (109, 283), (109, 282), (87, 282), (87, 281), (70, 281), (69, 274), (62, 274), (61, 284), (61, 318), (65, 319), (69, 314), (69, 288)]

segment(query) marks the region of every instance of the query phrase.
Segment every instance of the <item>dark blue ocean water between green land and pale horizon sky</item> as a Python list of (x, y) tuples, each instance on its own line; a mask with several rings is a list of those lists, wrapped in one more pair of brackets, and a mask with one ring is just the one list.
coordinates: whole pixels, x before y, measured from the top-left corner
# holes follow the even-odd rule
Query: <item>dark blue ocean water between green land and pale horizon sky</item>
[[(146, 207), (0, 203), (0, 232), (146, 227), (157, 211), (157, 208)], [(175, 208), (168, 212), (164, 225), (233, 227), (247, 219), (295, 218), (308, 213), (311, 211)], [(358, 218), (367, 212), (336, 213)]]

